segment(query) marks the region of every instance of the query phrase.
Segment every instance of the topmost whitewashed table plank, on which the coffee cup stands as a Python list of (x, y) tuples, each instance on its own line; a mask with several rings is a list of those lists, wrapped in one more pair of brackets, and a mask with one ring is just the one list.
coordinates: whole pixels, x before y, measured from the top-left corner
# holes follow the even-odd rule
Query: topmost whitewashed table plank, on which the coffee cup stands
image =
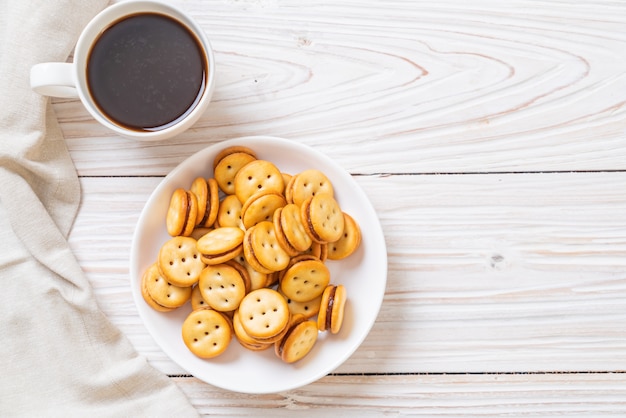
[(244, 135), (313, 145), (359, 173), (626, 167), (623, 2), (173, 3), (215, 49), (209, 111), (143, 147), (56, 103), (82, 175), (110, 175), (111, 160), (116, 175), (163, 175)]

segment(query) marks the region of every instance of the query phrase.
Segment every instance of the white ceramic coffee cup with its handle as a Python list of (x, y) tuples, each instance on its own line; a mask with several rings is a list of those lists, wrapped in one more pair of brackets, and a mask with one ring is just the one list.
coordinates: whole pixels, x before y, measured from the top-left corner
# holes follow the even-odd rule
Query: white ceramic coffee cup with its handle
[[(198, 94), (193, 99), (193, 102), (187, 109), (184, 109), (179, 117), (173, 118), (168, 123), (161, 124), (160, 126), (133, 126), (127, 122), (120, 122), (119, 118), (116, 119), (115, 117), (112, 117), (111, 115), (114, 112), (107, 112), (103, 108), (103, 102), (96, 100), (94, 97), (93, 92), (97, 90), (96, 85), (98, 81), (93, 77), (93, 75), (88, 76), (87, 74), (88, 63), (91, 58), (90, 55), (92, 54), (94, 48), (96, 48), (95, 45), (98, 42), (102, 42), (101, 39), (103, 36), (101, 35), (124, 20), (128, 20), (131, 17), (134, 18), (136, 16), (146, 15), (160, 16), (161, 21), (164, 20), (163, 18), (168, 18), (165, 20), (168, 20), (169, 23), (172, 23), (173, 20), (175, 22), (172, 27), (175, 29), (176, 23), (182, 25), (183, 30), (180, 33), (189, 33), (195, 39), (197, 49), (194, 51), (198, 52), (198, 54), (197, 56), (194, 56), (194, 61), (196, 63), (202, 61), (202, 65), (204, 66), (202, 82), (198, 85)], [(186, 29), (186, 31), (184, 29)], [(127, 55), (132, 55), (132, 53), (127, 53)], [(154, 60), (151, 59), (150, 62), (152, 61)], [(170, 61), (179, 62), (186, 60)], [(142, 65), (145, 65), (145, 63)], [(194, 74), (197, 74), (197, 71), (194, 72)], [(90, 79), (92, 80), (93, 85), (90, 85)], [(194, 83), (196, 84), (197, 79), (198, 77), (194, 77), (194, 80), (196, 80)], [(49, 62), (36, 64), (31, 69), (30, 83), (31, 88), (35, 92), (45, 96), (79, 98), (94, 119), (121, 136), (138, 140), (164, 140), (178, 135), (191, 127), (206, 111), (215, 88), (215, 59), (213, 56), (213, 50), (204, 31), (183, 11), (173, 7), (172, 5), (158, 1), (129, 0), (107, 7), (96, 15), (89, 22), (89, 24), (87, 24), (81, 32), (78, 42), (76, 43), (72, 63)], [(113, 84), (117, 85), (120, 83)], [(132, 87), (136, 84), (136, 82), (131, 83)], [(172, 87), (177, 86), (176, 83), (168, 82), (167, 84), (171, 90), (169, 94), (174, 94), (174, 91), (178, 91)], [(190, 89), (191, 87), (188, 87), (186, 90), (180, 90), (190, 92)], [(102, 87), (100, 90), (104, 90), (104, 88)], [(124, 87), (120, 90), (125, 92), (129, 89)], [(137, 95), (137, 97), (139, 96)], [(169, 96), (162, 94), (160, 97), (161, 100), (166, 100), (166, 97)], [(175, 101), (167, 100), (167, 102), (170, 103), (171, 106), (171, 103)], [(150, 105), (152, 105), (152, 101), (150, 102)], [(146, 107), (135, 106), (135, 108), (144, 109), (149, 116), (152, 114), (150, 110), (151, 108), (148, 104), (146, 104)], [(181, 111), (182, 110), (183, 109), (181, 107)], [(170, 112), (174, 111), (174, 109), (171, 109)], [(125, 110), (119, 110), (118, 114), (122, 114), (120, 112), (123, 113)]]

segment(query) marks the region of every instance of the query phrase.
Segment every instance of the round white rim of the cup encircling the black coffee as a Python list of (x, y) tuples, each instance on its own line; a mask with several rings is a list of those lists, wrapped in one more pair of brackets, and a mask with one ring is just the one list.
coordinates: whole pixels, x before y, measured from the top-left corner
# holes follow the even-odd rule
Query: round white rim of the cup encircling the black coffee
[[(202, 93), (202, 97), (198, 100), (198, 104), (180, 122), (158, 131), (135, 131), (125, 129), (122, 126), (115, 124), (98, 110), (87, 86), (86, 65), (93, 43), (98, 39), (104, 30), (111, 26), (112, 23), (125, 16), (142, 12), (164, 14), (184, 25), (194, 34), (198, 42), (201, 44), (207, 63), (205, 88)], [(108, 6), (100, 11), (83, 28), (74, 49), (72, 66), (78, 96), (83, 103), (83, 106), (85, 106), (91, 116), (117, 134), (138, 140), (156, 141), (168, 139), (187, 130), (205, 112), (215, 88), (215, 57), (213, 48), (208, 37), (206, 36), (206, 33), (186, 12), (176, 6), (162, 1), (127, 0)]]

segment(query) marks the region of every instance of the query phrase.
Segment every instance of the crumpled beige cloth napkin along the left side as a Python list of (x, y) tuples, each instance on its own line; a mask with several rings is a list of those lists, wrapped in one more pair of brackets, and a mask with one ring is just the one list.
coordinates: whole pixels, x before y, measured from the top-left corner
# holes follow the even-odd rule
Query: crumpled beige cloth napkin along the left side
[(0, 415), (190, 417), (102, 314), (67, 235), (76, 170), (32, 64), (65, 61), (105, 0), (0, 0)]

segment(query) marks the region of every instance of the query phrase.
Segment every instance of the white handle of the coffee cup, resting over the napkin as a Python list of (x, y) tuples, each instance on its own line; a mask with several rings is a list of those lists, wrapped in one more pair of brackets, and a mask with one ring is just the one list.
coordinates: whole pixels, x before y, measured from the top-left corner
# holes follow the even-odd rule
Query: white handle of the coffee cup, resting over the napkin
[(72, 65), (66, 62), (44, 62), (30, 69), (30, 87), (42, 96), (77, 98)]

